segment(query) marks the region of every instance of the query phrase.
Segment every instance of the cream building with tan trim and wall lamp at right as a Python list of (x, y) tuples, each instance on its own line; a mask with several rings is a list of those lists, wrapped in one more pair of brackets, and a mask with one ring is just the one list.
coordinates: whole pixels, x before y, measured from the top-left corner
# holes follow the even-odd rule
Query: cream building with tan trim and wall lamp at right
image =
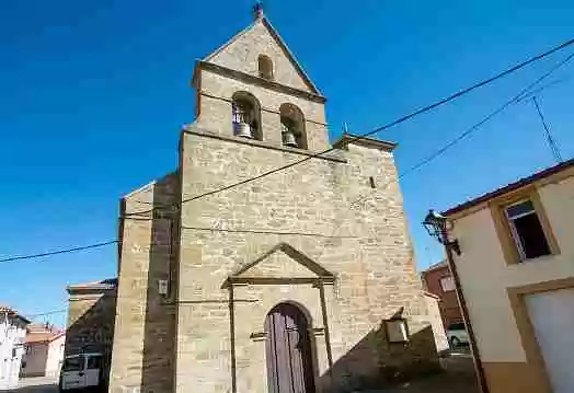
[(490, 393), (574, 392), (574, 160), (445, 216)]

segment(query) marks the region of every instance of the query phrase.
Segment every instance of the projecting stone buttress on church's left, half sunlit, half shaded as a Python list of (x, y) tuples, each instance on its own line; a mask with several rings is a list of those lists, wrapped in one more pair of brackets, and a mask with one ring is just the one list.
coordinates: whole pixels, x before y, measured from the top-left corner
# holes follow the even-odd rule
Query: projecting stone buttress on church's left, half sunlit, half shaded
[(179, 197), (174, 173), (123, 200), (111, 392), (173, 391), (175, 308), (169, 294), (159, 293), (159, 280), (172, 278)]

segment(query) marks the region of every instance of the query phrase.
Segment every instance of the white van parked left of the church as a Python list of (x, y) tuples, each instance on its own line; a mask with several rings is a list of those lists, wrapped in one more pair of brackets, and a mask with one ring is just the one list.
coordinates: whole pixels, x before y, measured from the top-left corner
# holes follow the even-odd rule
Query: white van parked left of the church
[(102, 354), (67, 356), (60, 372), (60, 392), (97, 388), (102, 383)]

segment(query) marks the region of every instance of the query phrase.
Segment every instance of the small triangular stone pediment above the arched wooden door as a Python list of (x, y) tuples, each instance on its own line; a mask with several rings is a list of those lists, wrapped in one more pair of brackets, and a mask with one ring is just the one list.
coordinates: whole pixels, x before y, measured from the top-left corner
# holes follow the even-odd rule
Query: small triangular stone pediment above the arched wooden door
[(334, 275), (291, 245), (279, 243), (230, 276), (252, 277), (333, 279)]

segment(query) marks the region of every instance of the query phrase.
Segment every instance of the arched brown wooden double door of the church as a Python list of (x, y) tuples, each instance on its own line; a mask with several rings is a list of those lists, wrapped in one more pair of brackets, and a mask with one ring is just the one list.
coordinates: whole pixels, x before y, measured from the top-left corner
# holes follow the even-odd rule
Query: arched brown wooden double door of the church
[(291, 303), (274, 307), (265, 320), (269, 393), (313, 393), (309, 322)]

